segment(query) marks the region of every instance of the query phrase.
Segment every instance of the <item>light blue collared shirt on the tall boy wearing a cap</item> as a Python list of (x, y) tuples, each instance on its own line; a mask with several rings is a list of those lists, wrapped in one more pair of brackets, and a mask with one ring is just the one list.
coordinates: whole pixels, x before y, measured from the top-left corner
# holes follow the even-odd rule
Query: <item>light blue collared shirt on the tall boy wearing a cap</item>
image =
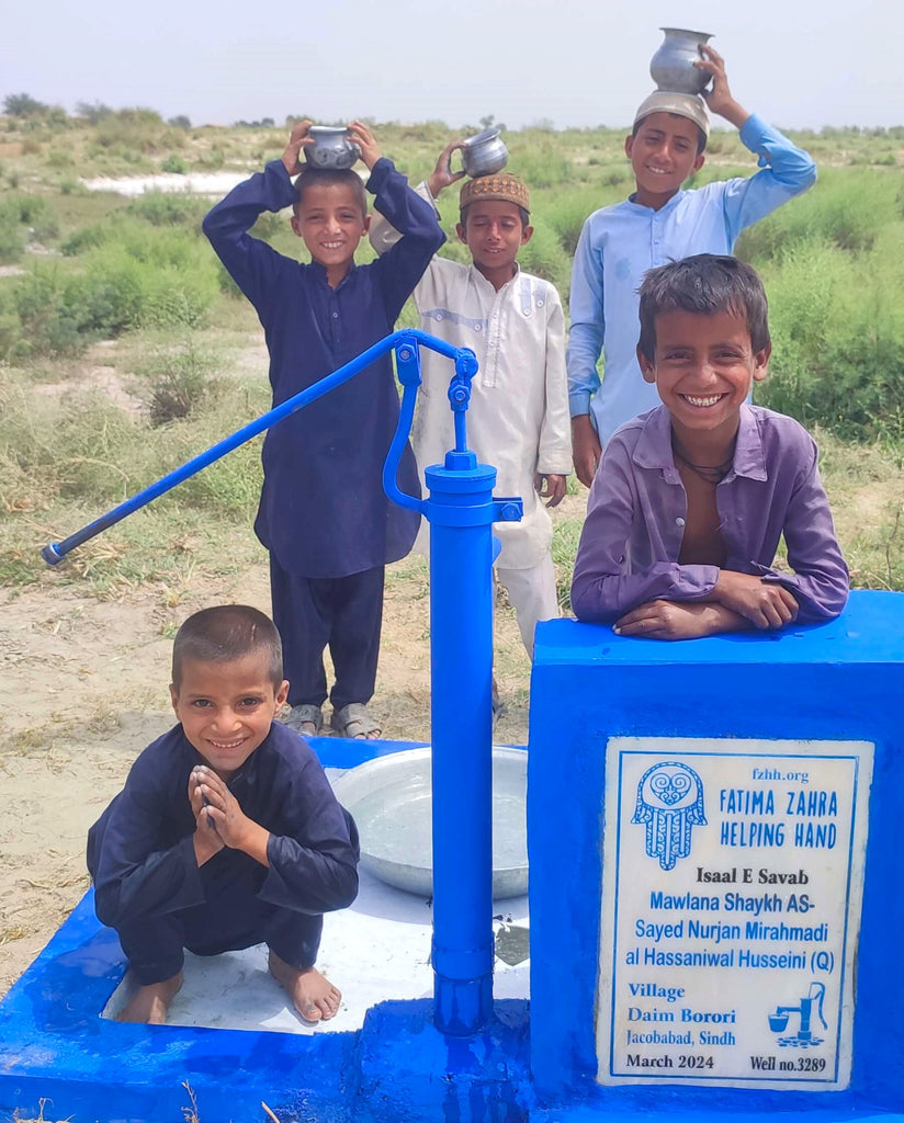
[[(568, 400), (572, 417), (590, 413), (605, 444), (638, 413), (659, 404), (637, 362), (637, 290), (647, 270), (691, 254), (730, 254), (745, 227), (806, 191), (816, 165), (759, 117), (741, 130), (763, 171), (679, 191), (658, 211), (627, 199), (584, 223), (572, 272)], [(602, 383), (596, 373), (604, 351)]]

